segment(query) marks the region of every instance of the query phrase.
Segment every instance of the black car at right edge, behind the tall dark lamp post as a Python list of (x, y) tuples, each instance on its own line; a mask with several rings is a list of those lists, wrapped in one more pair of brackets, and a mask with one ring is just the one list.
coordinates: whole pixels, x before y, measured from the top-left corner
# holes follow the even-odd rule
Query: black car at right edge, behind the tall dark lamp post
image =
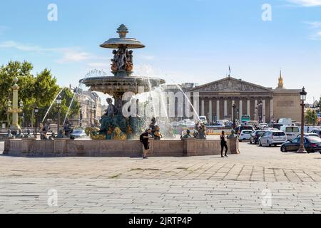
[[(280, 150), (282, 152), (297, 151), (299, 150), (300, 143), (301, 137), (297, 137), (294, 140), (283, 143)], [(320, 152), (321, 154), (321, 138), (305, 136), (304, 145), (307, 152)]]

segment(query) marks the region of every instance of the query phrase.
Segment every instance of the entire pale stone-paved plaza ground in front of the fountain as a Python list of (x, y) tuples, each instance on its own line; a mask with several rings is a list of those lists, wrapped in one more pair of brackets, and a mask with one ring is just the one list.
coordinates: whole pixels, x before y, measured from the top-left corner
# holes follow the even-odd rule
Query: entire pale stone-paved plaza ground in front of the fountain
[(320, 165), (247, 142), (228, 158), (0, 155), (0, 213), (320, 213)]

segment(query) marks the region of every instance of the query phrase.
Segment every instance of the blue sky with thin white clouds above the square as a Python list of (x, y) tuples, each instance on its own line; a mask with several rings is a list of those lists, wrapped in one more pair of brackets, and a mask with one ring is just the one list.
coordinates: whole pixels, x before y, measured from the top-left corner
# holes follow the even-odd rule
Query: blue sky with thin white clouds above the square
[[(49, 4), (58, 21), (47, 19)], [(109, 73), (111, 50), (99, 44), (120, 24), (146, 45), (134, 50), (137, 75), (201, 84), (230, 65), (235, 78), (275, 88), (282, 68), (286, 88), (305, 86), (310, 102), (321, 95), (321, 0), (1, 1), (0, 64), (28, 60), (77, 86), (93, 68)]]

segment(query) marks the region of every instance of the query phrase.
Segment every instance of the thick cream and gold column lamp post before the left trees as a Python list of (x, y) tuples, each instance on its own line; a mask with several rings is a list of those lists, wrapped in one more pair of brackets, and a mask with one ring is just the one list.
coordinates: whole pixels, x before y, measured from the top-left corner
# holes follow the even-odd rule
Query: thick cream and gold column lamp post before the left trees
[[(14, 78), (14, 86), (12, 86), (12, 108), (9, 108), (9, 112), (12, 113), (12, 123), (10, 125), (10, 130), (17, 132), (17, 130), (20, 130), (20, 126), (18, 123), (18, 113), (22, 113), (22, 107), (18, 107), (18, 90), (19, 90), (19, 86), (17, 84), (18, 82), (18, 78)], [(11, 102), (8, 102), (8, 106), (11, 106)], [(23, 105), (23, 103), (21, 103)]]

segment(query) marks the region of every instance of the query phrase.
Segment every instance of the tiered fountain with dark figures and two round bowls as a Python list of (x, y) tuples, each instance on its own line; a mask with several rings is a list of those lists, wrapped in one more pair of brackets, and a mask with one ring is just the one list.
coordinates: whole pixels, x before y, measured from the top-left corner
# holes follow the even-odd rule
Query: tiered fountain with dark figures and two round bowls
[(143, 117), (123, 115), (123, 106), (130, 100), (124, 98), (124, 93), (133, 95), (150, 91), (165, 83), (160, 78), (135, 77), (133, 75), (133, 51), (131, 49), (144, 48), (145, 46), (136, 38), (126, 37), (128, 28), (121, 24), (117, 29), (118, 38), (110, 38), (101, 44), (102, 48), (112, 48), (111, 72), (113, 76), (83, 78), (81, 83), (90, 87), (92, 91), (111, 95), (115, 100), (107, 99), (108, 109), (102, 116), (100, 125), (87, 128), (86, 132), (92, 139), (123, 140), (133, 138), (143, 131)]

